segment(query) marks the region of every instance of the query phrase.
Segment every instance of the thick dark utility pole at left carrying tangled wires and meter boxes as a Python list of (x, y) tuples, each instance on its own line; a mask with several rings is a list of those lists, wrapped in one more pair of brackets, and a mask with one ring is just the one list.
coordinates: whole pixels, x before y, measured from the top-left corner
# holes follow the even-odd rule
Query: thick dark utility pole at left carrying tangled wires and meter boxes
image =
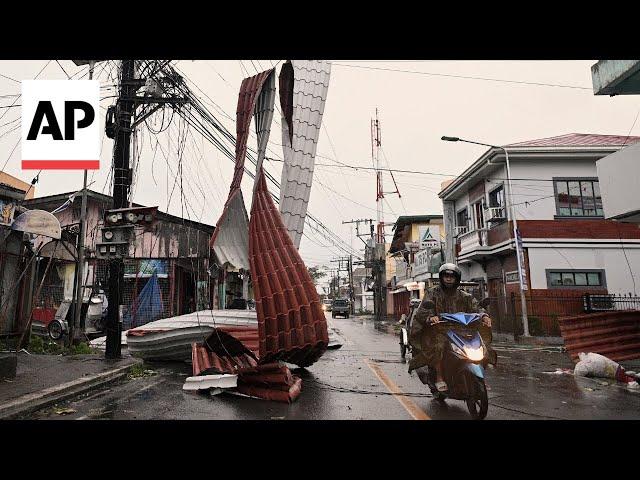
[[(131, 150), (131, 118), (134, 113), (135, 61), (122, 60), (120, 95), (116, 104), (116, 138), (113, 145), (113, 208), (127, 206), (131, 176), (129, 155)], [(124, 259), (109, 259), (109, 306), (107, 310), (106, 358), (120, 358), (121, 324), (120, 303), (124, 286)]]

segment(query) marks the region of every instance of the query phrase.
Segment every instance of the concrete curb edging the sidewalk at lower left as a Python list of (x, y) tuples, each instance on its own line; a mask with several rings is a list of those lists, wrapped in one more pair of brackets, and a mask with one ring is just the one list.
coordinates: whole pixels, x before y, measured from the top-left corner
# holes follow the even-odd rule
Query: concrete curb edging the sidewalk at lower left
[(136, 361), (106, 372), (55, 385), (35, 393), (28, 393), (0, 405), (0, 420), (11, 419), (39, 410), (48, 405), (76, 397), (95, 388), (113, 383), (125, 377)]

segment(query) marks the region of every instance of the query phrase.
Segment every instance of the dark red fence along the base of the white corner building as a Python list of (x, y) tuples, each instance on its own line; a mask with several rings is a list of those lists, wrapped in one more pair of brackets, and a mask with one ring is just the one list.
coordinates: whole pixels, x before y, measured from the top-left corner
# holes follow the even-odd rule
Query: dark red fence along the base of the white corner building
[[(533, 336), (560, 336), (559, 317), (597, 311), (640, 310), (640, 297), (593, 294), (527, 294), (529, 333)], [(522, 335), (522, 303), (520, 295), (490, 297), (488, 307), (497, 333)]]

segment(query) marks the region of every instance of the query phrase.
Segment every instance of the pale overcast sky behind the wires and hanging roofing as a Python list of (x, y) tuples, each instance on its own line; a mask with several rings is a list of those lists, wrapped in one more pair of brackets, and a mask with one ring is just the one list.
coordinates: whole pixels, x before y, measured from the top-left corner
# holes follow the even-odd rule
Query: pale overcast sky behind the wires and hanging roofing
[[(260, 61), (187, 61), (177, 68), (192, 80), (211, 100), (205, 98), (211, 112), (235, 134), (234, 122), (237, 95), (242, 78), (266, 70), (278, 60)], [(336, 165), (334, 160), (349, 165), (371, 166), (370, 121), (378, 109), (382, 127), (384, 160), (391, 168), (420, 170), (456, 175), (462, 172), (483, 152), (484, 147), (453, 144), (440, 140), (442, 135), (459, 136), (493, 144), (562, 135), (566, 133), (599, 133), (612, 135), (639, 134), (640, 125), (632, 131), (640, 104), (635, 96), (596, 97), (591, 85), (590, 67), (596, 61), (366, 61), (342, 60), (334, 62), (323, 128), (318, 142), (314, 184), (309, 211), (345, 242), (360, 249), (362, 242), (355, 238), (355, 229), (341, 222), (356, 218), (376, 218), (375, 174), (355, 171)], [(0, 61), (0, 74), (15, 80), (32, 79), (47, 65), (42, 61)], [(277, 64), (277, 73), (282, 62)], [(113, 80), (108, 72), (113, 64), (98, 64), (96, 77), (102, 82), (102, 96), (115, 94), (110, 88)], [(368, 68), (355, 68), (368, 67)], [(63, 68), (66, 74), (63, 72)], [(373, 69), (375, 68), (375, 69)], [(41, 79), (64, 79), (81, 68), (73, 62), (51, 61), (40, 73)], [(387, 69), (394, 70), (388, 71)], [(86, 70), (86, 67), (82, 69)], [(404, 72), (402, 72), (402, 71)], [(247, 74), (248, 72), (248, 74)], [(452, 75), (434, 76), (410, 72)], [(520, 83), (504, 83), (453, 76), (478, 77), (567, 85), (582, 88), (563, 88)], [(0, 105), (8, 106), (20, 93), (19, 83), (0, 77)], [(202, 95), (199, 91), (195, 93)], [(203, 96), (204, 98), (204, 96)], [(106, 108), (114, 102), (104, 98)], [(16, 105), (19, 105), (19, 99)], [(224, 113), (223, 113), (224, 112)], [(105, 110), (101, 111), (104, 122)], [(4, 115), (4, 117), (2, 117)], [(30, 181), (37, 172), (22, 171), (20, 167), (20, 129), (7, 133), (19, 121), (9, 123), (20, 115), (20, 108), (0, 109), (0, 167), (6, 163), (7, 173)], [(170, 114), (166, 115), (165, 126)], [(280, 118), (276, 112), (270, 137), (268, 156), (282, 157)], [(162, 114), (154, 117), (151, 127), (160, 128)], [(174, 184), (167, 178), (166, 161), (154, 147), (158, 139), (169, 153), (171, 169), (176, 170), (176, 143), (179, 122), (173, 119), (169, 129), (157, 136), (144, 129), (138, 181), (134, 187), (134, 201), (145, 205), (159, 205), (167, 210), (167, 200)], [(185, 217), (215, 224), (226, 199), (233, 164), (212, 145), (193, 131), (194, 143), (188, 137), (184, 153), (184, 191), (195, 213)], [(152, 140), (153, 138), (153, 140)], [(196, 146), (197, 143), (197, 146)], [(11, 156), (10, 152), (17, 145)], [(110, 192), (107, 183), (111, 163), (112, 141), (104, 138), (101, 169), (90, 173), (94, 181), (90, 188)], [(255, 148), (255, 137), (249, 141)], [(200, 153), (202, 153), (202, 158)], [(320, 165), (322, 164), (322, 165)], [(270, 162), (267, 168), (280, 178), (281, 163)], [(246, 176), (245, 176), (246, 178)], [(398, 215), (440, 214), (442, 204), (437, 197), (446, 176), (397, 174), (396, 181), (402, 195), (387, 195), (385, 219), (393, 222)], [(250, 205), (251, 181), (243, 182), (243, 192)], [(384, 176), (385, 191), (392, 191), (389, 175)], [(82, 187), (81, 172), (46, 171), (40, 176), (36, 196), (74, 191)], [(188, 207), (187, 207), (188, 208)], [(170, 213), (181, 215), (179, 191), (172, 196)], [(388, 229), (390, 232), (390, 229)], [(308, 227), (316, 243), (303, 238), (300, 251), (308, 265), (329, 264), (340, 252), (325, 248)]]

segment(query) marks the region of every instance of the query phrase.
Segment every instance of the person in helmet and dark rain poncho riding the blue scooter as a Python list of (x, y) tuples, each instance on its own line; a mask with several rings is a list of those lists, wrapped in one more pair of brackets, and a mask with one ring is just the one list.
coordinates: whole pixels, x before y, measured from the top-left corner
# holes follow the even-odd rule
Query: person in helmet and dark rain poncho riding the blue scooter
[[(411, 322), (409, 343), (412, 346), (412, 358), (409, 362), (409, 372), (425, 365), (436, 371), (436, 388), (440, 392), (447, 391), (448, 387), (443, 378), (442, 358), (447, 342), (446, 332), (450, 325), (438, 325), (438, 314), (444, 313), (484, 313), (482, 325), (478, 328), (480, 336), (489, 351), (489, 363), (495, 364), (496, 354), (490, 347), (491, 343), (491, 318), (480, 308), (478, 301), (461, 288), (460, 280), (462, 272), (457, 265), (445, 263), (438, 271), (440, 285), (430, 289), (422, 299), (418, 311)], [(427, 308), (425, 303), (431, 301), (435, 308)]]

